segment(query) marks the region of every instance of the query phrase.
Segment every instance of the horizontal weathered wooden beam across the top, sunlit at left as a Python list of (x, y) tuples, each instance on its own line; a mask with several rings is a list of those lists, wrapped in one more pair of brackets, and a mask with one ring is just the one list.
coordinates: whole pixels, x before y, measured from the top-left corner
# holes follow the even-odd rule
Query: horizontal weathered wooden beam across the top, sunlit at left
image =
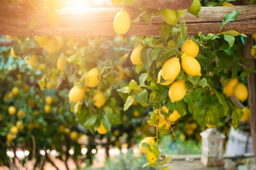
[[(62, 8), (57, 10), (59, 14), (59, 25), (52, 30), (46, 12), (38, 10), (38, 22), (32, 30), (36, 35), (48, 36), (114, 36), (113, 20), (121, 8)], [(132, 20), (137, 18), (141, 10), (126, 8)], [(185, 12), (186, 26), (189, 35), (198, 35), (200, 31), (204, 35), (219, 32), (223, 17), (226, 13), (234, 10), (240, 11), (236, 21), (227, 23), (222, 31), (236, 30), (243, 34), (256, 33), (256, 6), (232, 6), (232, 7), (202, 7), (200, 18)], [(29, 20), (35, 16), (34, 10), (27, 9)], [(159, 35), (163, 19), (161, 16), (152, 14), (152, 26), (148, 26), (142, 19), (132, 23), (127, 35)], [(31, 35), (27, 29), (28, 21), (24, 9), (19, 6), (10, 5), (7, 8), (0, 7), (0, 34), (22, 36)], [(250, 26), (250, 27), (246, 27)]]

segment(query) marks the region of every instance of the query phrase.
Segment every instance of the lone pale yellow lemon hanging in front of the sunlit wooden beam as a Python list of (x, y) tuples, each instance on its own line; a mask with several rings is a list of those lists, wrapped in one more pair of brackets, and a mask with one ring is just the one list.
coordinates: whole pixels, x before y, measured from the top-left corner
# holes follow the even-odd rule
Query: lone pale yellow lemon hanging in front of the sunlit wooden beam
[(113, 28), (117, 35), (126, 34), (131, 27), (131, 16), (127, 11), (121, 9), (114, 19)]

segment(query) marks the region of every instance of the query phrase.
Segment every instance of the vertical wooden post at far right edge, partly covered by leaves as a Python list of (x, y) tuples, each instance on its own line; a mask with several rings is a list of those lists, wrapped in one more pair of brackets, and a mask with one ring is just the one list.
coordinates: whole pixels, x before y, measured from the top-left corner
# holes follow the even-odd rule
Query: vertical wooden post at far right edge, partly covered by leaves
[[(248, 38), (244, 38), (244, 57), (249, 59), (251, 56), (251, 48), (253, 44), (253, 38), (251, 35), (247, 35)], [(255, 67), (255, 61), (246, 63), (247, 68), (250, 66)], [(249, 108), (251, 110), (250, 126), (251, 126), (251, 137), (253, 143), (254, 157), (256, 161), (256, 77), (253, 73), (247, 75), (248, 94), (249, 94)]]

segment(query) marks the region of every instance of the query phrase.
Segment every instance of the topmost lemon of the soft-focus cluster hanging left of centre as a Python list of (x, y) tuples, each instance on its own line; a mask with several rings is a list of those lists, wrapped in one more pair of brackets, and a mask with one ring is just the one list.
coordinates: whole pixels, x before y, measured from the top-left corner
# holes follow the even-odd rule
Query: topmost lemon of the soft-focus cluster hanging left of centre
[(86, 85), (87, 87), (96, 87), (100, 80), (101, 80), (101, 75), (100, 70), (97, 69), (97, 67), (91, 69), (87, 75), (86, 75)]

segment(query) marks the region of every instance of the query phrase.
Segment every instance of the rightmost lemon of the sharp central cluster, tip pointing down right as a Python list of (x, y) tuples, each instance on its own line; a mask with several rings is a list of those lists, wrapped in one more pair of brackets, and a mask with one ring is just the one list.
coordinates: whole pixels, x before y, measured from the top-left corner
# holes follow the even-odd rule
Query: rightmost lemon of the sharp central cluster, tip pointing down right
[(189, 76), (201, 76), (201, 65), (194, 57), (186, 53), (181, 55), (181, 67)]

